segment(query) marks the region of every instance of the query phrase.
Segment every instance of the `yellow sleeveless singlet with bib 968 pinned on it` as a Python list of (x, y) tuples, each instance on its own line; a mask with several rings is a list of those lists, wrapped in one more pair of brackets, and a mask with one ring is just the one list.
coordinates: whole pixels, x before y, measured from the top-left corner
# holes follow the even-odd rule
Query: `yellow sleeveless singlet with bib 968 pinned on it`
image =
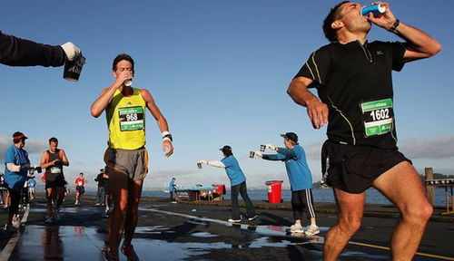
[(110, 148), (136, 150), (145, 145), (145, 101), (139, 89), (133, 88), (130, 97), (116, 90), (105, 115)]

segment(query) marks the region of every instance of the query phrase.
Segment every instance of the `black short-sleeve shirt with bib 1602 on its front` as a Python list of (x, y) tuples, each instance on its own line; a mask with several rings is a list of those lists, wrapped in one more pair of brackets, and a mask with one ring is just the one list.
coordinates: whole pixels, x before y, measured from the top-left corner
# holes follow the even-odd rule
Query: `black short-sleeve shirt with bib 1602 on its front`
[(330, 43), (311, 53), (297, 77), (314, 82), (329, 106), (328, 139), (352, 145), (394, 149), (391, 71), (404, 65), (400, 42)]

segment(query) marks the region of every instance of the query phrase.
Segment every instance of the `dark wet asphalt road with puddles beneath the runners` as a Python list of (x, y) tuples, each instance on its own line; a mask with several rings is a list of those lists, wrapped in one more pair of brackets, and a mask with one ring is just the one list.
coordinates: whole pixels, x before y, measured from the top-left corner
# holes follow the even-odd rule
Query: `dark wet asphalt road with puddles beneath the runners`
[[(94, 207), (94, 198), (85, 198), (82, 206), (73, 203), (68, 199), (62, 220), (45, 226), (44, 201), (38, 199), (23, 232), (0, 231), (2, 254), (11, 238), (16, 238), (9, 260), (103, 260), (104, 209)], [(230, 218), (229, 208), (143, 198), (133, 245), (142, 260), (321, 260), (324, 235), (336, 222), (334, 215), (319, 215), (321, 234), (317, 237), (296, 237), (284, 232), (291, 226), (291, 211), (259, 213), (254, 221), (232, 226), (225, 222)], [(0, 211), (2, 223), (5, 214)], [(389, 260), (389, 250), (380, 247), (388, 247), (395, 221), (364, 218), (340, 260)], [(452, 222), (430, 222), (419, 247), (421, 255), (414, 260), (454, 260), (453, 232)]]

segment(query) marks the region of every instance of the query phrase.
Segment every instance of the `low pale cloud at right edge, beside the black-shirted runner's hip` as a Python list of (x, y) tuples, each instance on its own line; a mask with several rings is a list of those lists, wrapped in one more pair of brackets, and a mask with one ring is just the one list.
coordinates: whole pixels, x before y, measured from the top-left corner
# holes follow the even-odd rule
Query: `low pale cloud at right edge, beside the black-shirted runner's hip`
[(443, 160), (454, 158), (454, 136), (402, 140), (399, 150), (410, 159)]

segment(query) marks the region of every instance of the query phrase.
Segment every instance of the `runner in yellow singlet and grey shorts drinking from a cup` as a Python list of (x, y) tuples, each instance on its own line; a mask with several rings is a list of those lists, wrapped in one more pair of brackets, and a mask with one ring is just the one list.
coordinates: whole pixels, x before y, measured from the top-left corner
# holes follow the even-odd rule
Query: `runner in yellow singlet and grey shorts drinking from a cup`
[(103, 111), (106, 112), (109, 128), (109, 148), (104, 161), (114, 198), (114, 211), (109, 216), (109, 246), (104, 249), (104, 258), (119, 260), (121, 228), (124, 227), (122, 252), (128, 260), (139, 260), (131, 241), (137, 225), (143, 179), (148, 172), (148, 155), (144, 147), (145, 109), (152, 113), (163, 132), (163, 151), (166, 157), (173, 153), (172, 135), (152, 94), (145, 89), (131, 87), (133, 58), (128, 54), (119, 54), (114, 59), (112, 69), (114, 83), (101, 92), (91, 107), (95, 118)]

